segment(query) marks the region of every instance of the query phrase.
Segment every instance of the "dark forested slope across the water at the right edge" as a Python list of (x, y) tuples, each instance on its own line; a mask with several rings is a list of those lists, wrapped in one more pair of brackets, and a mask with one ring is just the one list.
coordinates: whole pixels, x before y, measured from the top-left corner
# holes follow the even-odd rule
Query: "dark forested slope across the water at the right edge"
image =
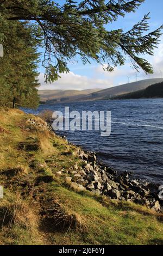
[(152, 84), (146, 89), (137, 90), (133, 93), (115, 96), (114, 99), (140, 99), (140, 98), (153, 98), (163, 97), (163, 82)]

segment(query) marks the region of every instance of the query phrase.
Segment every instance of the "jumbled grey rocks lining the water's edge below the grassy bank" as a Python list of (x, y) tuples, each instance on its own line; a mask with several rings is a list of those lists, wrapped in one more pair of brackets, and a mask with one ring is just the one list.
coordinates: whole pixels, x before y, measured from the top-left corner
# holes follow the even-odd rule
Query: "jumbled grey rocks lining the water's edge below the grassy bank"
[[(33, 120), (31, 121), (35, 124)], [(53, 131), (52, 123), (47, 123), (47, 129)], [(57, 134), (56, 136), (66, 139), (65, 136)], [(68, 144), (72, 143), (68, 142)], [(85, 151), (80, 147), (74, 154), (82, 160), (82, 166), (76, 164), (67, 171), (66, 182), (71, 183), (72, 186), (78, 187), (79, 190), (104, 194), (110, 199), (126, 200), (145, 205), (156, 212), (163, 212), (163, 198), (159, 196), (158, 184), (132, 179), (133, 173), (127, 171), (118, 173), (117, 170), (98, 161), (96, 153)], [(62, 170), (59, 170), (57, 174), (62, 175)]]

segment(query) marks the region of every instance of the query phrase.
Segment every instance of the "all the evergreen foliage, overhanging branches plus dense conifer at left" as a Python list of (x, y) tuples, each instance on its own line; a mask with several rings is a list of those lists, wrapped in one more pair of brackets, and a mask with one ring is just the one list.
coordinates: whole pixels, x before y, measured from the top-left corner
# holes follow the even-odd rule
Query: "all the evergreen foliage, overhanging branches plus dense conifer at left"
[(42, 65), (47, 82), (68, 72), (68, 62), (76, 57), (83, 64), (94, 60), (107, 71), (124, 65), (129, 57), (137, 71), (141, 68), (152, 73), (152, 65), (143, 54), (153, 54), (162, 26), (149, 33), (149, 14), (127, 32), (109, 26), (118, 17), (135, 12), (144, 1), (65, 0), (62, 4), (51, 0), (0, 0), (0, 44), (5, 51), (0, 68), (1, 103), (16, 100), (30, 106), (33, 100), (38, 101), (37, 47), (44, 48)]

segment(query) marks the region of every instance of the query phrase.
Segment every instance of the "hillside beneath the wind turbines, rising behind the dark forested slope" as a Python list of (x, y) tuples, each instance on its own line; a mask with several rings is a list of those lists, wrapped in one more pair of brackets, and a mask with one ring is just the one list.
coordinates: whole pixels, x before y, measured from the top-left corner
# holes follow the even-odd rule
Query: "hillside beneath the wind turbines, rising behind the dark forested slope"
[(155, 83), (160, 83), (163, 81), (163, 78), (153, 78), (141, 80), (133, 83), (122, 84), (121, 86), (115, 86), (111, 88), (107, 88), (104, 90), (100, 90), (99, 92), (92, 93), (83, 97), (80, 100), (102, 100), (102, 99), (110, 99), (112, 96), (127, 94), (131, 92), (135, 92), (136, 90), (142, 90), (151, 86)]

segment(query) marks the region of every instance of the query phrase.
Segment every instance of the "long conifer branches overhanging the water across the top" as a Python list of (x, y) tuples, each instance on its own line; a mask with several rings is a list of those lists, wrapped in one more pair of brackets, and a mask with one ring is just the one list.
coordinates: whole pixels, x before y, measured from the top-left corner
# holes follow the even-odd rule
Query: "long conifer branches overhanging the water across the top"
[(108, 71), (123, 65), (129, 57), (137, 71), (141, 68), (152, 73), (151, 64), (141, 56), (153, 54), (162, 26), (148, 33), (149, 15), (145, 15), (129, 31), (110, 29), (111, 22), (135, 12), (144, 1), (67, 0), (60, 4), (51, 0), (0, 0), (0, 8), (5, 21), (26, 20), (40, 26), (45, 47), (43, 66), (47, 81), (53, 81), (61, 72), (69, 71), (67, 63), (77, 55), (83, 64), (91, 60), (107, 64)]

